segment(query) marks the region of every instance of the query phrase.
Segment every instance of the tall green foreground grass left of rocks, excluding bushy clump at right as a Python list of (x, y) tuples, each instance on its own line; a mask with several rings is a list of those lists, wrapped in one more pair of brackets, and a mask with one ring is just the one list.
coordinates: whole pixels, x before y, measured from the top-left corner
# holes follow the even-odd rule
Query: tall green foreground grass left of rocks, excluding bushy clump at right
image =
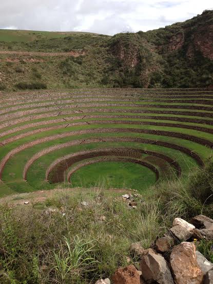
[(130, 210), (104, 191), (58, 191), (46, 203), (56, 212), (1, 207), (0, 282), (89, 283), (125, 266), (132, 242), (148, 248), (165, 231), (158, 204)]

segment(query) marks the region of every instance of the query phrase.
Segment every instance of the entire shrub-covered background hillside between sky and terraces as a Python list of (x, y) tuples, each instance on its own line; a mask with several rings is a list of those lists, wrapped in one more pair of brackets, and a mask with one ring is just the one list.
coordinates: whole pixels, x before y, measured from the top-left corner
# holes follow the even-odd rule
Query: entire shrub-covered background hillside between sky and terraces
[(213, 11), (183, 23), (114, 36), (0, 32), (0, 90), (208, 87)]

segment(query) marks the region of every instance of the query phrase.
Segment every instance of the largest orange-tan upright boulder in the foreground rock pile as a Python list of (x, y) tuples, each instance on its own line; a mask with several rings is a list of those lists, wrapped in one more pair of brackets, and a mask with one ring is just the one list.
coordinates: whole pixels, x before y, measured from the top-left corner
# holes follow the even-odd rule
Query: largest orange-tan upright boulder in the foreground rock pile
[(196, 247), (192, 242), (182, 242), (172, 249), (170, 266), (176, 284), (201, 284), (203, 272), (201, 271)]

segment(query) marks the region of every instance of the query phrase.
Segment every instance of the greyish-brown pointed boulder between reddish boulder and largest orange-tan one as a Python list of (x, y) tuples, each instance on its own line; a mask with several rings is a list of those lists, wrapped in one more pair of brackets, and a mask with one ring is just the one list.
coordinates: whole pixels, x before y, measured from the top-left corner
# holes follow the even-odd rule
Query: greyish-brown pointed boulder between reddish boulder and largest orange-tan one
[(142, 257), (140, 267), (146, 283), (174, 284), (168, 264), (163, 256), (148, 253)]

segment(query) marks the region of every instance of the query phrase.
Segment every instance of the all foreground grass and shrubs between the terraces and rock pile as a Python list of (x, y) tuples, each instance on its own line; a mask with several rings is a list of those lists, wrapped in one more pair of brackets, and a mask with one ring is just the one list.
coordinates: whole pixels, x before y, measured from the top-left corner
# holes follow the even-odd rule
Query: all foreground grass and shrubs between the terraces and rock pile
[[(174, 217), (213, 217), (212, 203), (206, 202), (206, 196), (211, 200), (212, 174), (209, 164), (188, 178), (161, 182), (150, 188), (153, 194), (145, 202), (138, 198), (137, 209), (130, 209), (122, 194), (103, 188), (75, 194), (58, 190), (39, 210), (36, 204), (2, 205), (0, 282), (83, 284), (110, 277), (127, 264), (132, 242), (150, 247)], [(54, 211), (46, 212), (49, 207)], [(211, 260), (210, 245), (201, 243), (200, 250)]]

